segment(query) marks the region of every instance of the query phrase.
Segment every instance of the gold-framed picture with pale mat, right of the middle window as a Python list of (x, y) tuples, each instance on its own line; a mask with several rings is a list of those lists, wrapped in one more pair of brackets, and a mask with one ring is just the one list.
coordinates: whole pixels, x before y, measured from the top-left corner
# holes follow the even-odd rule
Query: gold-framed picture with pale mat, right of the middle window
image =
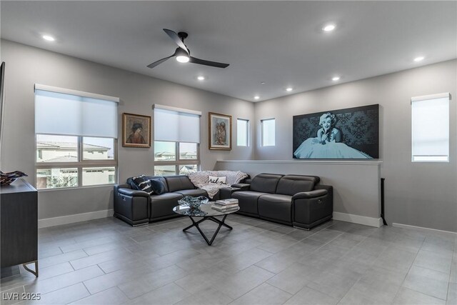
[(231, 116), (209, 113), (209, 149), (231, 149)]

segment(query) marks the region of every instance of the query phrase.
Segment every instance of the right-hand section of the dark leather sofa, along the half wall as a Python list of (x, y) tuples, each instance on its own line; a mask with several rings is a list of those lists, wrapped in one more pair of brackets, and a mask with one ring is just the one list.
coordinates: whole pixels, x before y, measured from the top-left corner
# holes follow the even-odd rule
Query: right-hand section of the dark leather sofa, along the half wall
[(311, 229), (333, 214), (333, 187), (318, 176), (258, 174), (250, 184), (237, 184), (238, 214)]

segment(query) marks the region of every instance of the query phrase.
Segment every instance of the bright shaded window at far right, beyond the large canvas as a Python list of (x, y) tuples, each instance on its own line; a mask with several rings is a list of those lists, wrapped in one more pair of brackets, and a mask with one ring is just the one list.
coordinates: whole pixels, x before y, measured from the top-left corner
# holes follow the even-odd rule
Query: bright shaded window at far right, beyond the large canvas
[(449, 161), (449, 94), (411, 99), (413, 162)]

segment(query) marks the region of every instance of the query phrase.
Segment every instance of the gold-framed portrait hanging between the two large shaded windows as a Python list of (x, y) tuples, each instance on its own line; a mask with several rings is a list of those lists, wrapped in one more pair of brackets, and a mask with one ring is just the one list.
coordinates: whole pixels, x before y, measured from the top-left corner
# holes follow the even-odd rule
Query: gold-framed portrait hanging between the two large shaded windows
[(122, 114), (122, 146), (151, 147), (151, 116)]

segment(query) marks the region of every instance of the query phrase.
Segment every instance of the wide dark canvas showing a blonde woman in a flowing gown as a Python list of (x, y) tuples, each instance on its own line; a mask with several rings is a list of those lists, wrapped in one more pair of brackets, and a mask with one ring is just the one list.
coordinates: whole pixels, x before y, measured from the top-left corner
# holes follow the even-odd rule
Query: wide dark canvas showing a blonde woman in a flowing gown
[(294, 159), (378, 159), (379, 105), (293, 116)]

